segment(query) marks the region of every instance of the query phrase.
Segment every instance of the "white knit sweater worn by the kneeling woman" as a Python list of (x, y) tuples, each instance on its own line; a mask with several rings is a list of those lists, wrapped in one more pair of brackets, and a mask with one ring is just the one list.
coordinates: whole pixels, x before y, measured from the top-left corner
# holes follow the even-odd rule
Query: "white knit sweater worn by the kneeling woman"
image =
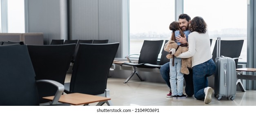
[(208, 31), (204, 33), (192, 32), (188, 36), (189, 50), (181, 53), (178, 58), (191, 57), (192, 67), (202, 64), (212, 58), (211, 44)]

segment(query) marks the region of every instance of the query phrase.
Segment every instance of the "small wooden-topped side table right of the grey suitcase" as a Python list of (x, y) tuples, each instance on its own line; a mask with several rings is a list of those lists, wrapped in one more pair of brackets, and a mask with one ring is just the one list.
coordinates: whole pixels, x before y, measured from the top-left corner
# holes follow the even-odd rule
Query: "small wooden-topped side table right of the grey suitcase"
[(238, 72), (237, 75), (237, 81), (236, 84), (238, 84), (243, 92), (245, 92), (245, 88), (243, 87), (241, 79), (248, 79), (248, 80), (256, 80), (255, 75), (243, 75), (242, 72), (256, 72), (256, 68), (237, 68), (236, 72)]

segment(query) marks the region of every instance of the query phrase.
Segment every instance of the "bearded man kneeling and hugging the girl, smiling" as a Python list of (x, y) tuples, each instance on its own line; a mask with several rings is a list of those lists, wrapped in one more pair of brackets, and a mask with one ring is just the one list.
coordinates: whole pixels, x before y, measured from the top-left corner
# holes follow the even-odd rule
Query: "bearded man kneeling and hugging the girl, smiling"
[[(191, 22), (191, 18), (189, 17), (189, 15), (180, 14), (178, 22), (180, 25), (180, 29), (182, 29), (183, 31), (189, 31), (189, 24)], [(181, 37), (179, 35), (179, 37), (176, 37), (176, 40), (177, 40), (177, 42), (180, 42), (181, 44), (187, 43), (186, 35), (185, 35), (185, 37)], [(166, 97), (172, 97), (171, 85), (170, 85), (170, 75), (169, 75), (169, 72), (170, 72), (169, 65), (170, 65), (170, 63), (168, 62), (160, 68), (160, 73), (161, 73), (163, 79), (165, 80), (166, 84), (170, 88), (169, 94), (167, 94)], [(185, 93), (187, 94), (187, 96), (192, 96), (194, 94), (193, 74), (192, 73), (193, 73), (192, 69), (189, 69), (189, 75), (183, 76), (185, 79), (185, 82), (186, 82)]]

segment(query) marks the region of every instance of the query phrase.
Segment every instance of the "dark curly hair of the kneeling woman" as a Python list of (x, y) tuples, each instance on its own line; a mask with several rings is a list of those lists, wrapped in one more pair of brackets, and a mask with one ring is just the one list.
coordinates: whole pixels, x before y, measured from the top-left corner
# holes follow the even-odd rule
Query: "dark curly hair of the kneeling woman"
[(196, 16), (191, 20), (191, 24), (189, 26), (190, 32), (198, 32), (198, 33), (206, 33), (207, 31), (207, 24), (202, 17)]

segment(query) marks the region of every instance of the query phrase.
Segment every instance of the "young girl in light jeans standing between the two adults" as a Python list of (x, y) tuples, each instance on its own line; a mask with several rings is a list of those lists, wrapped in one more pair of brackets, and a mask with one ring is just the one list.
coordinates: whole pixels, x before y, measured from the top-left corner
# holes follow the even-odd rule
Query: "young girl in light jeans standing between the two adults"
[[(180, 35), (181, 37), (186, 37), (189, 34), (189, 31), (186, 31), (185, 33), (180, 29), (178, 22), (172, 22), (169, 26), (169, 29), (172, 31), (171, 33), (171, 39), (165, 44), (165, 51), (170, 52), (170, 49), (167, 48), (167, 45), (170, 41), (176, 42), (176, 36)], [(179, 42), (176, 42), (178, 45), (180, 45)], [(174, 53), (173, 53), (174, 54)], [(172, 54), (172, 55), (173, 55)], [(174, 65), (173, 65), (174, 61)], [(180, 72), (181, 68), (181, 58), (176, 58), (173, 56), (173, 58), (170, 59), (170, 84), (171, 84), (171, 92), (174, 99), (182, 99), (186, 98), (186, 95), (183, 94), (183, 73)], [(176, 81), (177, 79), (177, 81)], [(176, 84), (177, 83), (177, 84)]]

